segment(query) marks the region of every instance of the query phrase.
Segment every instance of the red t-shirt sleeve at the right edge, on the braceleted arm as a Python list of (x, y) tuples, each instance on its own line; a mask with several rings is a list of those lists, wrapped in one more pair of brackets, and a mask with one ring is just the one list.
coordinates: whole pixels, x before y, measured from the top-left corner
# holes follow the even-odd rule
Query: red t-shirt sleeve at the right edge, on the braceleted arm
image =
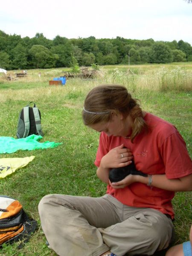
[(187, 151), (186, 143), (178, 131), (164, 140), (161, 146), (161, 155), (168, 179), (192, 174), (192, 160)]

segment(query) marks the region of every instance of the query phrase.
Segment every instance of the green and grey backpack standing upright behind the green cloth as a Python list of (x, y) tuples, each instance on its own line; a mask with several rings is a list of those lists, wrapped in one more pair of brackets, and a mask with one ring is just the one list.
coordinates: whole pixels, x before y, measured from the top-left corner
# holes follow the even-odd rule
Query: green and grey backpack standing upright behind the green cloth
[[(33, 103), (33, 107), (29, 105)], [(41, 129), (41, 112), (35, 106), (34, 102), (20, 111), (18, 125), (17, 125), (17, 138), (26, 138), (31, 134), (44, 136)]]

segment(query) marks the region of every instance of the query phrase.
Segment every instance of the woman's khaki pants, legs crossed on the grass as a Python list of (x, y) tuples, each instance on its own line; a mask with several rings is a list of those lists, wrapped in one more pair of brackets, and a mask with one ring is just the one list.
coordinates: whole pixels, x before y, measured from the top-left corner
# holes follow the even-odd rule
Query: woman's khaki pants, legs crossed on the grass
[(170, 218), (149, 208), (128, 207), (111, 195), (100, 198), (46, 195), (39, 214), (49, 247), (59, 256), (152, 255), (168, 247)]

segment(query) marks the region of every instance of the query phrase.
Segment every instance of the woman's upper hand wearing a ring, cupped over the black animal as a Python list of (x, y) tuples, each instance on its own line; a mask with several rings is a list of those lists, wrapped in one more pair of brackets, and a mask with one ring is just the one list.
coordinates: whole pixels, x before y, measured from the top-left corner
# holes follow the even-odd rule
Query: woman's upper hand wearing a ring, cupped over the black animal
[(108, 154), (102, 157), (100, 166), (107, 169), (124, 167), (131, 163), (132, 158), (133, 154), (130, 149), (124, 148), (124, 145), (122, 144), (111, 149)]

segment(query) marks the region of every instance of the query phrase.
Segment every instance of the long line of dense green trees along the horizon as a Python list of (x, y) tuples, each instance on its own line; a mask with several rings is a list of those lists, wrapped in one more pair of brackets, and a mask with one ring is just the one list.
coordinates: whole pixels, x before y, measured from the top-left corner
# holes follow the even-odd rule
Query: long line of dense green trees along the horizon
[(68, 39), (57, 35), (53, 40), (42, 33), (21, 38), (0, 30), (0, 67), (6, 70), (115, 64), (169, 63), (192, 61), (192, 46), (180, 41), (113, 39)]

